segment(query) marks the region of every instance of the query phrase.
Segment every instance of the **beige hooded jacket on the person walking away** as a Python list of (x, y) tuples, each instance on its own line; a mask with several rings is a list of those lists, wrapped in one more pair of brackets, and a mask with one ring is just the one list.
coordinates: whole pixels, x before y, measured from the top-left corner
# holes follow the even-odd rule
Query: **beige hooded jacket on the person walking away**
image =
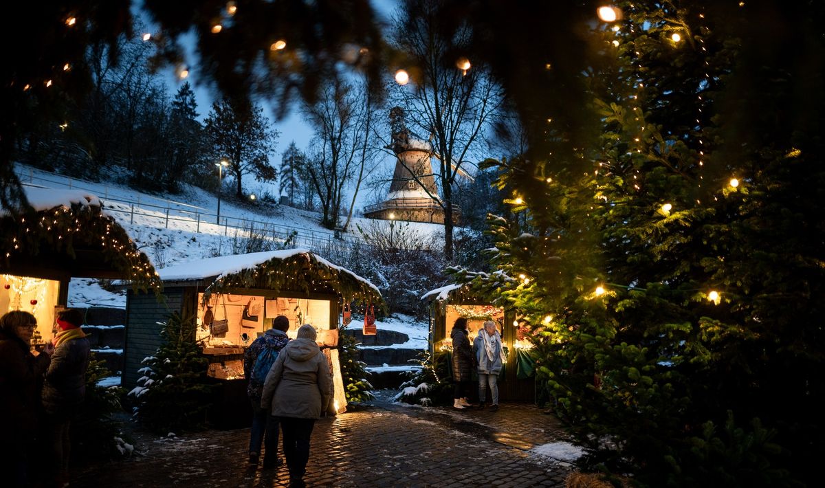
[(261, 407), (277, 417), (318, 419), (331, 398), (332, 375), (326, 356), (314, 340), (290, 340), (266, 375)]

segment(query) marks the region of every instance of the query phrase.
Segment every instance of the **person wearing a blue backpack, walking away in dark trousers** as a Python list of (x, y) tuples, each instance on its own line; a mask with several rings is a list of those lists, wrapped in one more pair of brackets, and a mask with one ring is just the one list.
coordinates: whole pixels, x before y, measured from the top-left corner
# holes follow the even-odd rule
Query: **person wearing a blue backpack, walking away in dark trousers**
[(252, 432), (249, 437), (249, 462), (257, 464), (264, 448), (264, 469), (281, 465), (278, 458), (278, 423), (272, 421), (269, 411), (261, 407), (261, 394), (266, 373), (278, 358), (290, 338), (290, 319), (279, 315), (272, 320), (272, 328), (252, 342), (243, 354), (243, 376), (249, 380), (247, 396), (252, 403)]

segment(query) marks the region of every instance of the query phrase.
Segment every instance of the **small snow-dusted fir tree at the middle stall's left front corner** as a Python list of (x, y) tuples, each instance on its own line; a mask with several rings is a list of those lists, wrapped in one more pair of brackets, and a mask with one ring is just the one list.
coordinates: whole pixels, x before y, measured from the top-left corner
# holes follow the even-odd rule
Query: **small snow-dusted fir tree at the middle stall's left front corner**
[(135, 416), (158, 432), (200, 429), (205, 426), (213, 386), (206, 378), (209, 364), (195, 343), (195, 320), (172, 314), (163, 324), (165, 342), (145, 358), (143, 376), (129, 392), (137, 406)]

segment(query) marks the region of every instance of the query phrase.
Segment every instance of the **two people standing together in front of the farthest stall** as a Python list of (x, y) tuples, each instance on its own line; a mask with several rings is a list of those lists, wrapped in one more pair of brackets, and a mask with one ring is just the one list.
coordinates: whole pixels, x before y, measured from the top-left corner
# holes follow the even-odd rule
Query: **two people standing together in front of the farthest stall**
[(453, 407), (464, 410), (473, 406), (468, 400), (472, 384), (472, 370), (476, 368), (479, 376), (479, 408), (484, 408), (487, 389), (490, 389), (491, 411), (498, 410), (498, 374), (502, 372), (502, 336), (496, 330), (496, 323), (485, 321), (483, 329), (475, 337), (473, 346), (469, 345), (467, 319), (455, 320), (450, 334), (453, 340)]

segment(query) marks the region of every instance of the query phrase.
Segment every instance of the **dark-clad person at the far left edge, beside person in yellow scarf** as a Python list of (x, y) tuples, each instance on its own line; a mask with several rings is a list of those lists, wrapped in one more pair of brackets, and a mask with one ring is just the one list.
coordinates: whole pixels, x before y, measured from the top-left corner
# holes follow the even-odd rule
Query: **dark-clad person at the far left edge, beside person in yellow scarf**
[[(14, 311), (0, 317), (0, 476), (3, 486), (27, 486), (27, 458), (37, 434), (40, 379), (54, 350), (31, 354), (35, 316)], [(8, 483), (8, 485), (6, 484)]]

